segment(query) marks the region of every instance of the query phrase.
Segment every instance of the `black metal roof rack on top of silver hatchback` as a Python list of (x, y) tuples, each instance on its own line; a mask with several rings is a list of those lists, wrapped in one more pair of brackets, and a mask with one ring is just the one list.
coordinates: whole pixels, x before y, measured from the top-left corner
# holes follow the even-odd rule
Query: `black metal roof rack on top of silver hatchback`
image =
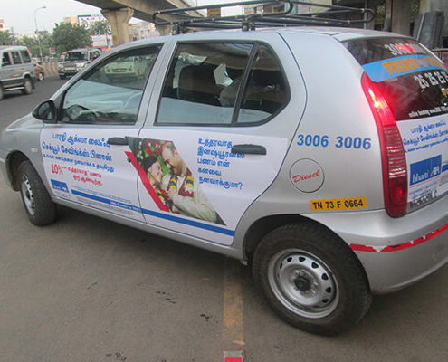
[[(253, 14), (237, 14), (222, 16), (223, 8), (233, 6), (253, 5)], [(312, 6), (320, 8), (318, 12), (298, 13), (301, 6)], [(263, 11), (271, 6), (272, 12)], [(260, 9), (262, 12), (257, 13)], [(213, 16), (198, 16), (201, 10), (216, 11)], [(355, 17), (348, 19), (347, 17)], [(357, 17), (357, 18), (356, 18)], [(243, 31), (255, 30), (260, 27), (280, 27), (298, 25), (319, 26), (351, 26), (356, 24), (367, 24), (375, 17), (372, 9), (357, 8), (340, 5), (313, 4), (309, 1), (296, 0), (254, 0), (238, 3), (224, 3), (215, 5), (191, 6), (160, 10), (153, 14), (153, 22), (156, 25), (171, 25), (172, 33), (187, 33), (193, 29), (238, 29)], [(169, 18), (170, 21), (165, 20)]]

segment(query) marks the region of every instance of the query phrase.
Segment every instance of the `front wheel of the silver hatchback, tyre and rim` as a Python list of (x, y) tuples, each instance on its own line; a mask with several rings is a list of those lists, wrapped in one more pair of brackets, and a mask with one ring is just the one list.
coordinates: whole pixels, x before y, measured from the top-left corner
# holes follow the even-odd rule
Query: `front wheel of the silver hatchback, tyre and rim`
[(31, 162), (24, 161), (20, 164), (18, 176), (20, 194), (30, 221), (38, 226), (52, 224), (56, 220), (56, 204)]

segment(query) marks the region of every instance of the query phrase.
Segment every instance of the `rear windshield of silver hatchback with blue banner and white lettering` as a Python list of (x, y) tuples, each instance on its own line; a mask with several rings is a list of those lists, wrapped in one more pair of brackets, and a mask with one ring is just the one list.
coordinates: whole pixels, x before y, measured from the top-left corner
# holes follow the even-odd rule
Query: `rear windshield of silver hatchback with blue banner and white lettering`
[(448, 113), (448, 72), (413, 39), (399, 37), (344, 42), (383, 91), (396, 120)]

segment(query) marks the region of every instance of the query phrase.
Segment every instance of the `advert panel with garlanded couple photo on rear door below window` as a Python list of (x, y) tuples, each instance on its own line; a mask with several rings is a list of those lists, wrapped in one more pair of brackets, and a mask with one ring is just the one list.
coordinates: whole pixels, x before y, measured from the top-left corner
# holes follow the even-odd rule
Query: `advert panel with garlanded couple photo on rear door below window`
[[(225, 245), (277, 176), (287, 147), (287, 138), (180, 129), (142, 130), (128, 139), (147, 223)], [(238, 144), (263, 145), (267, 153), (233, 153)]]

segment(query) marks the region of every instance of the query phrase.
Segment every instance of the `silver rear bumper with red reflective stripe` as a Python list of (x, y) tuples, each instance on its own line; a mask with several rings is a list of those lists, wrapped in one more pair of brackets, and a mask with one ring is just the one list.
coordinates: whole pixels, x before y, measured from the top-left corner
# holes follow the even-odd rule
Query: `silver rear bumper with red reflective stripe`
[(405, 288), (448, 262), (446, 196), (396, 219), (384, 210), (309, 216), (348, 243), (363, 265), (374, 293)]

